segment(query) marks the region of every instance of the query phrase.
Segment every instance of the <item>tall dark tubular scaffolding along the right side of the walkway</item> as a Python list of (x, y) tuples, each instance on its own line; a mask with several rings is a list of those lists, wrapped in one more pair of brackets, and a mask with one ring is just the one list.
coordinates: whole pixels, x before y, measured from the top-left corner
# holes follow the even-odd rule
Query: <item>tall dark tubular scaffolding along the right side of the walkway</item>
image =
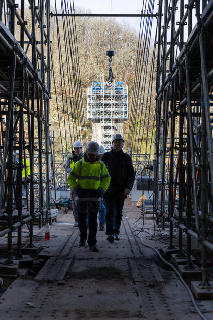
[(173, 226), (179, 227), (179, 258), (186, 233), (187, 270), (193, 269), (191, 238), (202, 245), (202, 289), (210, 287), (207, 250), (213, 252), (212, 10), (212, 0), (202, 8), (199, 1), (174, 0), (171, 7), (160, 1), (158, 11), (155, 212), (163, 229), (164, 217), (170, 221), (168, 249)]

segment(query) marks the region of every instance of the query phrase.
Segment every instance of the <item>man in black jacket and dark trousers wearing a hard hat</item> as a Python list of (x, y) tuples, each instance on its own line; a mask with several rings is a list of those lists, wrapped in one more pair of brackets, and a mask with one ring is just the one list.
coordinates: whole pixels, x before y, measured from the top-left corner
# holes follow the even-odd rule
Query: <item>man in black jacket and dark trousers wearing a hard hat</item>
[(104, 194), (107, 209), (106, 234), (109, 242), (120, 239), (124, 200), (130, 194), (135, 177), (132, 160), (122, 150), (124, 145), (122, 135), (116, 134), (112, 144), (113, 149), (101, 157), (111, 176), (109, 188)]

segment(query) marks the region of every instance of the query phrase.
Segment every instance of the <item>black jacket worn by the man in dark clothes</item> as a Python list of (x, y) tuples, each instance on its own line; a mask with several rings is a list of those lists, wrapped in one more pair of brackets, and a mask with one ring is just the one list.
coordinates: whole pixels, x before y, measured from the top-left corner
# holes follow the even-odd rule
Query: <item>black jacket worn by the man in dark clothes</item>
[(104, 198), (126, 198), (125, 188), (132, 189), (134, 183), (134, 167), (130, 156), (123, 150), (116, 152), (112, 149), (102, 155), (101, 161), (107, 166), (111, 181), (105, 191)]

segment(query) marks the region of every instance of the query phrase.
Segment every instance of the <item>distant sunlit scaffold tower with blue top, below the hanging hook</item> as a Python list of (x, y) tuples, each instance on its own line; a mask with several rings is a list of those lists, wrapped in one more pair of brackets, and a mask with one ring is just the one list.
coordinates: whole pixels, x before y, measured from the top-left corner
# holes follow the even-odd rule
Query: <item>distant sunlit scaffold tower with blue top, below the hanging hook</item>
[(87, 90), (87, 119), (93, 121), (93, 136), (105, 150), (110, 150), (112, 137), (123, 133), (123, 121), (128, 118), (128, 88), (123, 82), (108, 87), (92, 82)]

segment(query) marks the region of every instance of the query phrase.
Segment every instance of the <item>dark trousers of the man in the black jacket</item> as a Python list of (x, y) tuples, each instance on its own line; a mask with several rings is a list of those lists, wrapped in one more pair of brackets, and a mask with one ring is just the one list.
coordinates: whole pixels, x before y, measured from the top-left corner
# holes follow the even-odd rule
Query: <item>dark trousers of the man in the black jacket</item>
[(122, 221), (124, 198), (105, 198), (106, 202), (106, 234), (119, 234)]

